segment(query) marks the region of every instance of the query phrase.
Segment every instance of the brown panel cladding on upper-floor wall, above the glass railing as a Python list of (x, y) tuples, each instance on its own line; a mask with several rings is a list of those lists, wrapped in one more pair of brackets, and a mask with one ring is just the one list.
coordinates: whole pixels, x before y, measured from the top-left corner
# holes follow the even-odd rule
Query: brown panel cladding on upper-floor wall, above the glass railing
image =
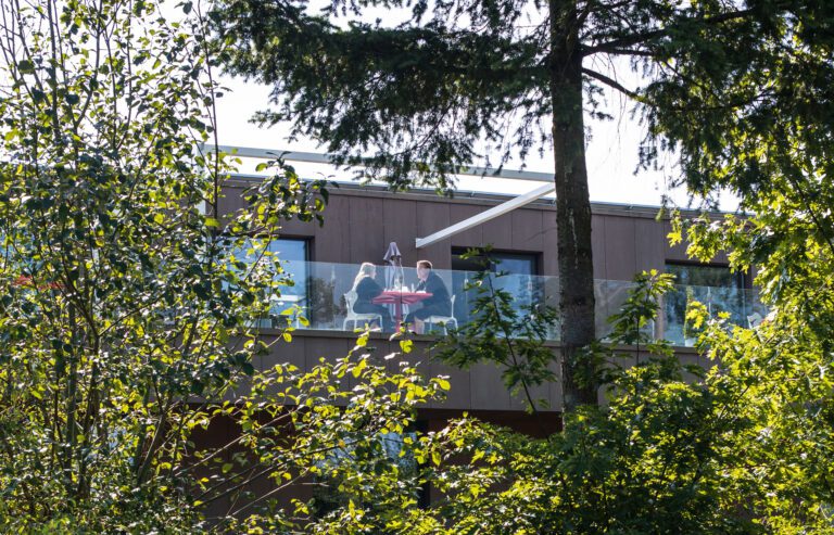
[[(222, 213), (240, 208), (244, 182), (232, 181), (225, 190)], [(557, 275), (556, 211), (551, 203), (536, 202), (492, 219), (422, 250), (415, 240), (504, 202), (507, 198), (391, 193), (384, 190), (341, 187), (330, 191), (325, 225), (288, 221), (282, 234), (311, 240), (311, 258), (316, 262), (380, 264), (388, 244), (395, 241), (403, 263), (413, 266), (426, 258), (448, 269), (452, 249), (491, 244), (503, 252), (540, 256), (540, 275)], [(657, 208), (592, 205), (594, 277), (631, 280), (645, 269), (662, 270), (667, 260), (686, 259), (685, 245), (670, 247), (668, 221), (656, 220)], [(725, 260), (723, 256), (716, 258)]]

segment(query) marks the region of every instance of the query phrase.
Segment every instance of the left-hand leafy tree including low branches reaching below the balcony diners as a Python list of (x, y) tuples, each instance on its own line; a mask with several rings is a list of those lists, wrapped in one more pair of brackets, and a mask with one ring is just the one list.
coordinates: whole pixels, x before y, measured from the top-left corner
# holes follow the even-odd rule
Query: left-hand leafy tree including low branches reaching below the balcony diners
[[(181, 8), (169, 22), (153, 1), (2, 3), (0, 531), (292, 523), (262, 518), (271, 496), (252, 486), (328, 475), (340, 448), (380, 466), (380, 432), (443, 390), (386, 373), (366, 339), (309, 373), (255, 369), (271, 342), (252, 320), (281, 319), (287, 283), (269, 240), (320, 217), (326, 190), (278, 165), (244, 209), (219, 212), (228, 157), (199, 150), (213, 63), (200, 7)], [(194, 444), (223, 418), (239, 436)]]

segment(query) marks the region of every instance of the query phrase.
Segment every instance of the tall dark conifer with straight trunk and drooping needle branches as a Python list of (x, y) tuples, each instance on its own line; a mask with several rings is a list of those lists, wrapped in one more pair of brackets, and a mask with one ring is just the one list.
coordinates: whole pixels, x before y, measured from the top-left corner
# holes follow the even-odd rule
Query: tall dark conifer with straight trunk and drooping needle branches
[[(596, 403), (597, 391), (578, 380), (594, 374), (579, 351), (594, 340), (583, 111), (606, 116), (603, 87), (632, 99), (654, 141), (642, 153), (644, 165), (658, 147), (677, 150), (697, 189), (709, 163), (704, 150), (742, 135), (728, 130), (716, 110), (756, 123), (761, 90), (781, 76), (771, 67), (782, 64), (782, 52), (806, 53), (792, 37), (819, 36), (823, 3), (386, 0), (332, 1), (314, 13), (303, 1), (222, 0), (214, 18), (219, 39), (232, 44), (228, 69), (274, 88), (277, 110), (258, 120), (292, 122), (295, 133), (321, 140), (339, 162), (361, 163), (394, 187), (447, 189), (451, 175), (476, 156), (494, 152), (503, 164), (536, 144), (553, 150), (563, 382), (571, 410)], [(370, 8), (403, 22), (369, 23), (378, 13)], [(645, 86), (628, 89), (594, 68), (611, 58), (630, 61)], [(826, 90), (824, 80), (812, 87)], [(486, 143), (483, 154), (479, 141)], [(721, 147), (729, 145), (724, 139)], [(363, 158), (369, 149), (376, 154)]]

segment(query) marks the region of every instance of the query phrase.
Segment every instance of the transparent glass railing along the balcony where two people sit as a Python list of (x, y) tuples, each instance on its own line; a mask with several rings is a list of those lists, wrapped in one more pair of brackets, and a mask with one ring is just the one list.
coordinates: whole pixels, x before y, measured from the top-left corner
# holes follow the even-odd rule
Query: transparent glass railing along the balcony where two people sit
[[(295, 284), (285, 289), (276, 311), (285, 311), (296, 328), (353, 331), (355, 328), (363, 328), (365, 323), (377, 322), (369, 319), (370, 316), (367, 316), (367, 313), (356, 313), (349, 307), (351, 298), (349, 292), (353, 289), (354, 279), (359, 270), (358, 265), (290, 262), (286, 264), (286, 269), (293, 276)], [(435, 269), (434, 272), (443, 280), (453, 297), (452, 318), (458, 326), (466, 323), (472, 316), (476, 294), (465, 289), (477, 273), (444, 269)], [(377, 267), (375, 280), (383, 289), (400, 288), (401, 278), (402, 290), (406, 293), (413, 291), (418, 283), (414, 268), (405, 267), (395, 270), (386, 266)], [(513, 304), (519, 314), (528, 314), (526, 310), (531, 305), (553, 307), (558, 305), (559, 279), (557, 277), (493, 275), (491, 281), (494, 288), (505, 290), (514, 296)], [(595, 281), (597, 335), (605, 337), (610, 332), (608, 318), (620, 309), (633, 283), (629, 281), (599, 279)], [(399, 304), (386, 305), (392, 319), (396, 318), (397, 308), (401, 317), (404, 318), (409, 311), (421, 306), (409, 305), (407, 301), (405, 298)], [(767, 314), (755, 290), (675, 286), (664, 297), (658, 319), (650, 326), (655, 336), (666, 337), (675, 345), (692, 346), (697, 333), (685, 321), (686, 306), (691, 301), (700, 302), (710, 314), (716, 316), (719, 313), (728, 313), (731, 323), (744, 327), (755, 324)], [(295, 317), (296, 314), (306, 318), (308, 323), (304, 326)], [(374, 324), (374, 327), (377, 326)], [(442, 329), (441, 326), (435, 327)], [(557, 340), (558, 335), (558, 326), (554, 326), (551, 336)]]

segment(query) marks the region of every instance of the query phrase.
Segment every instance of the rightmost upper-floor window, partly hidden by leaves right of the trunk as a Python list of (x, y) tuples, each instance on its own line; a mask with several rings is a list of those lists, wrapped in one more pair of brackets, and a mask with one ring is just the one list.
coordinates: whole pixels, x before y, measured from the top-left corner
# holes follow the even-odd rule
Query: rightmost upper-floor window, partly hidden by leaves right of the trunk
[(675, 276), (675, 289), (666, 297), (666, 339), (679, 345), (692, 345), (697, 333), (686, 321), (686, 307), (697, 301), (712, 316), (730, 314), (730, 321), (744, 324), (751, 314), (751, 292), (744, 273), (724, 266), (667, 264), (666, 272)]

